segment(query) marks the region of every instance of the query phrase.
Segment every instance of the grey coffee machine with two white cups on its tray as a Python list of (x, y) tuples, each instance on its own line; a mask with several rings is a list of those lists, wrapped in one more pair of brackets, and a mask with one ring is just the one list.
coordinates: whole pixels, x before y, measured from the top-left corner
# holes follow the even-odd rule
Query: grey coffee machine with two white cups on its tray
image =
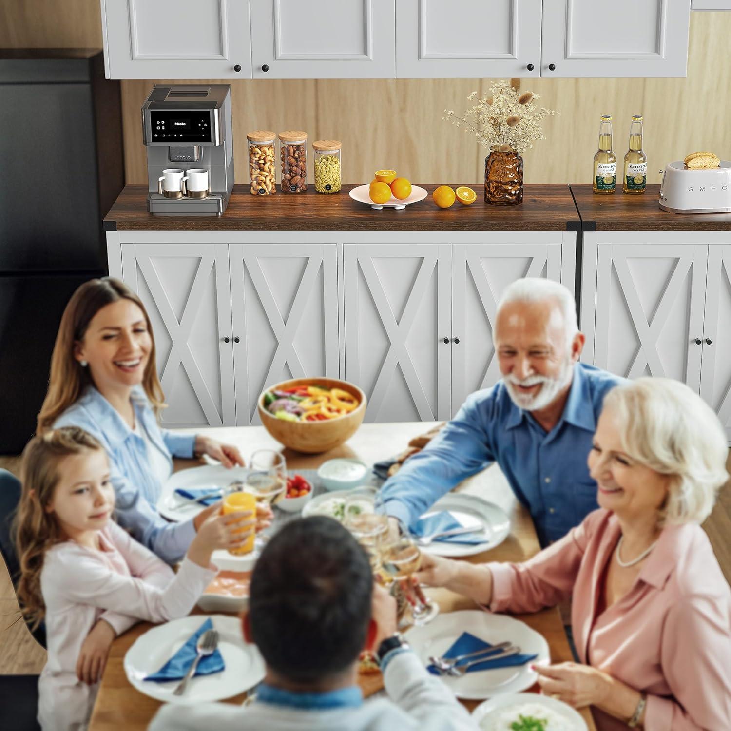
[[(230, 85), (156, 84), (142, 106), (142, 126), (148, 211), (220, 216), (233, 189)], [(194, 186), (185, 184), (189, 174)]]

